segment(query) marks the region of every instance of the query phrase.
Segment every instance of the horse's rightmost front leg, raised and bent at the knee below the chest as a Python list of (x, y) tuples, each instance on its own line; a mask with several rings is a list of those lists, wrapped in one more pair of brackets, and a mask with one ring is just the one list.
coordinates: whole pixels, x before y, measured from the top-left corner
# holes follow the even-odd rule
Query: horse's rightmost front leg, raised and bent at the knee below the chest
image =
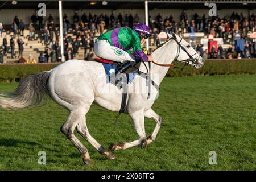
[(152, 132), (152, 134), (147, 137), (146, 141), (143, 144), (143, 147), (146, 147), (148, 144), (150, 144), (151, 142), (153, 142), (156, 138), (156, 135), (158, 134), (158, 131), (163, 123), (162, 118), (160, 117), (160, 115), (156, 114), (154, 110), (149, 109), (148, 111), (146, 111), (144, 113), (144, 116), (150, 119), (154, 119), (156, 122), (156, 126), (154, 131)]

